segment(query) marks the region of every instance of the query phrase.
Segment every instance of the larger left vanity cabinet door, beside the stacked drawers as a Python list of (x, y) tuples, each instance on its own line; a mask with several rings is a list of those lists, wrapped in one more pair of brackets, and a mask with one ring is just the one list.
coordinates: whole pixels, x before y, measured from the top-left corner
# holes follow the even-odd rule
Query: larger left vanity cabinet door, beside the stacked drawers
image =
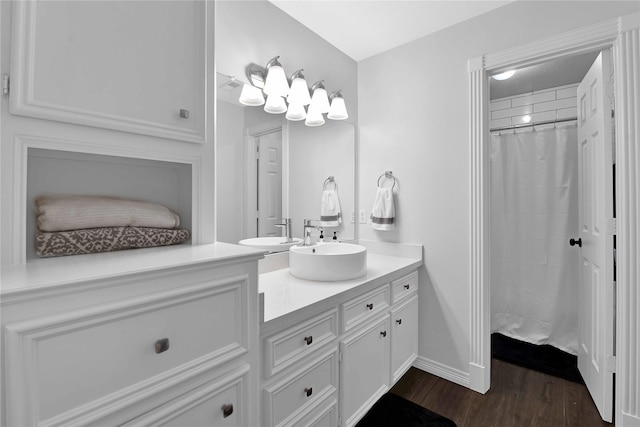
[(389, 389), (389, 315), (340, 342), (340, 401), (346, 426), (354, 425)]

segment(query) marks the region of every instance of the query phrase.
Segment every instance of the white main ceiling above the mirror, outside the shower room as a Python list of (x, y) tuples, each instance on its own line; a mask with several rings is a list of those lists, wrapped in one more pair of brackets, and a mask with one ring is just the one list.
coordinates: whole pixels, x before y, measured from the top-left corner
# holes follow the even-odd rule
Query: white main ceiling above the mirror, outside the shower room
[(354, 60), (361, 61), (513, 0), (269, 1)]

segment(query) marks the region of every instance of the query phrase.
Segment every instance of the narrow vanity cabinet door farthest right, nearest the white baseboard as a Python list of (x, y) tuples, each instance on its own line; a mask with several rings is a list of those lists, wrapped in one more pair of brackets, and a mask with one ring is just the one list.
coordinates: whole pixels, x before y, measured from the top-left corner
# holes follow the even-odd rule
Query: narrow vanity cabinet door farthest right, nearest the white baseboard
[(418, 355), (418, 297), (391, 310), (391, 383), (411, 367)]

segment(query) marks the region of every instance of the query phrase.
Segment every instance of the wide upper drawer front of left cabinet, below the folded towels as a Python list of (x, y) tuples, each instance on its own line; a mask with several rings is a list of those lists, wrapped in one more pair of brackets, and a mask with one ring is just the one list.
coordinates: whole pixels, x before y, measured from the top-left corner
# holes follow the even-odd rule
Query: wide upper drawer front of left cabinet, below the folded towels
[[(245, 353), (245, 295), (240, 277), (7, 325), (7, 393), (27, 396), (10, 400), (8, 419), (23, 425), (90, 413), (154, 376)], [(156, 353), (162, 339), (169, 348)]]

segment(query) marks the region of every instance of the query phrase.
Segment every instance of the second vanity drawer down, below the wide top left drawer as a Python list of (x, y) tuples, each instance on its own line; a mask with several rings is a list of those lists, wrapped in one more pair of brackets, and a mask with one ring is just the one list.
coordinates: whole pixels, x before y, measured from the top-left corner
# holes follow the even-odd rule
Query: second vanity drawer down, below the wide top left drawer
[(264, 389), (268, 425), (295, 423), (311, 407), (337, 391), (337, 348)]

